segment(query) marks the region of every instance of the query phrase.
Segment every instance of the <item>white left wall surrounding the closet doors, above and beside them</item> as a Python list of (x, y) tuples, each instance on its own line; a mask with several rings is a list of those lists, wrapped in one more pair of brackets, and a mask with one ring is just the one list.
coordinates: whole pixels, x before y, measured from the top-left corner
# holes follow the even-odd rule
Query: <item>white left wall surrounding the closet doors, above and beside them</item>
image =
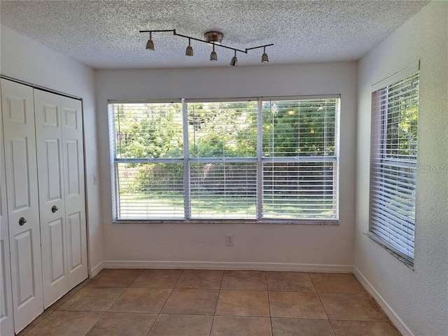
[[(31, 38), (1, 25), (0, 71), (4, 76), (71, 94), (83, 99), (85, 165), (87, 169), (87, 221), (90, 269), (101, 265), (102, 225), (98, 172), (94, 71)], [(97, 267), (98, 268), (98, 267)]]

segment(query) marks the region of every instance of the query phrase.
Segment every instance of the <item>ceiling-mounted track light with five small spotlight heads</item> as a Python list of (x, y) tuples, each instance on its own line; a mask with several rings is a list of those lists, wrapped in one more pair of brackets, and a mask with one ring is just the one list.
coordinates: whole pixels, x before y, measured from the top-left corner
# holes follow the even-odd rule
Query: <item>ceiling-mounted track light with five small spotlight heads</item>
[(271, 43), (271, 44), (265, 44), (265, 45), (258, 45), (257, 47), (246, 48), (245, 50), (241, 50), (241, 49), (237, 49), (237, 48), (228, 47), (227, 45), (222, 45), (221, 41), (223, 41), (224, 35), (223, 35), (223, 33), (219, 32), (219, 31), (207, 31), (206, 33), (204, 33), (204, 40), (201, 40), (199, 38), (194, 38), (191, 36), (178, 34), (178, 33), (176, 33), (176, 29), (141, 30), (140, 31), (141, 33), (149, 33), (149, 40), (146, 43), (147, 50), (154, 50), (153, 33), (159, 33), (159, 32), (163, 32), (163, 31), (171, 31), (176, 36), (188, 38), (188, 47), (185, 52), (185, 55), (187, 55), (187, 56), (193, 56), (193, 47), (191, 46), (191, 40), (199, 41), (199, 42), (203, 42), (203, 43), (209, 43), (209, 44), (213, 45), (213, 51), (210, 54), (211, 61), (218, 60), (218, 55), (216, 55), (216, 51), (215, 51), (215, 45), (217, 45), (218, 47), (234, 50), (235, 54), (232, 57), (232, 60), (230, 61), (230, 65), (232, 65), (232, 66), (237, 66), (237, 62), (238, 62), (237, 52), (244, 52), (245, 54), (247, 54), (248, 50), (258, 49), (258, 48), (263, 48), (261, 62), (267, 63), (267, 62), (269, 62), (269, 58), (267, 57), (266, 47), (269, 47), (270, 45), (274, 45), (273, 43)]

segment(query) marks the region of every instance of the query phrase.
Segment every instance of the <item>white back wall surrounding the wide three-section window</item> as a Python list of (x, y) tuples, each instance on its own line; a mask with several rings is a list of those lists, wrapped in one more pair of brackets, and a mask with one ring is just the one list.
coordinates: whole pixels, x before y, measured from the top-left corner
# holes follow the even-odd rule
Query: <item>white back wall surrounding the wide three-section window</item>
[[(351, 272), (356, 62), (288, 66), (260, 64), (250, 67), (202, 69), (100, 70), (96, 73), (105, 265), (327, 269)], [(338, 226), (112, 223), (108, 99), (337, 93), (342, 94)], [(235, 247), (225, 247), (226, 234), (235, 235)], [(130, 262), (131, 260), (134, 262)]]

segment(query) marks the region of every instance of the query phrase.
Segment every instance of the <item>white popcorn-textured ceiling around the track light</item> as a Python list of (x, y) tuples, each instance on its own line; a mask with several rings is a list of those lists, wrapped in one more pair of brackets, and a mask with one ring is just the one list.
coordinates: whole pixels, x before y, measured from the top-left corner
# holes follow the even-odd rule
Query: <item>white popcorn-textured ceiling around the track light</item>
[[(1, 1), (0, 22), (94, 69), (229, 66), (232, 50), (154, 33), (145, 49), (139, 30), (176, 29), (203, 39), (221, 31), (223, 45), (267, 48), (269, 64), (360, 59), (429, 1)], [(238, 65), (260, 64), (262, 50), (238, 53)]]

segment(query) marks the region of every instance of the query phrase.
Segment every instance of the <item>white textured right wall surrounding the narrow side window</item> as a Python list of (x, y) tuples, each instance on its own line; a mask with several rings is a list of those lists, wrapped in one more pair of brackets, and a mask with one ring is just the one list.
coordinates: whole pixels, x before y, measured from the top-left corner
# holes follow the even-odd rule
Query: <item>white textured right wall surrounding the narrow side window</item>
[[(432, 1), (358, 64), (355, 273), (403, 335), (448, 335), (448, 2)], [(371, 85), (421, 60), (414, 270), (368, 230)], [(437, 166), (443, 172), (425, 172)]]

